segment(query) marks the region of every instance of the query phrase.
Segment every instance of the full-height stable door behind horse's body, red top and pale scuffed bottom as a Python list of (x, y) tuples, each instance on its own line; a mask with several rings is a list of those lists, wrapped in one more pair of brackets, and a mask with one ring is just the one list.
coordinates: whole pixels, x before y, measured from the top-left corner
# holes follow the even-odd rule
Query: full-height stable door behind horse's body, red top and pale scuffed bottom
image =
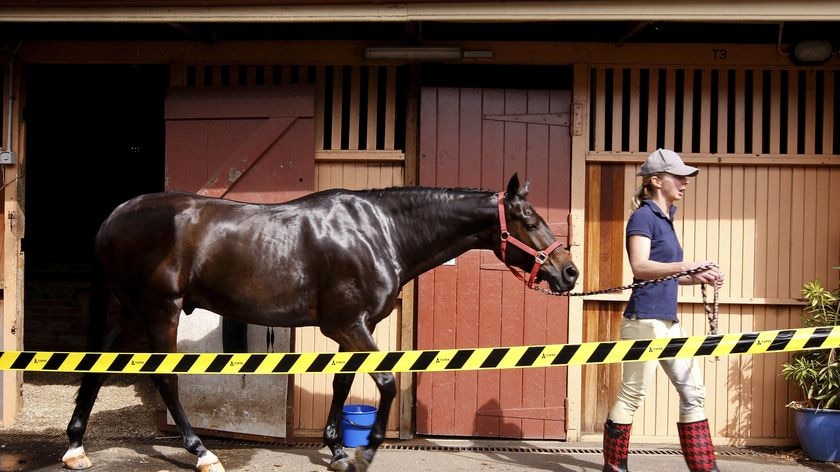
[[(172, 89), (166, 97), (166, 190), (273, 203), (314, 189), (310, 86)], [(182, 352), (290, 350), (288, 328), (181, 314)], [(181, 376), (194, 427), (234, 437), (286, 437), (286, 376)], [(169, 424), (174, 424), (171, 418)]]

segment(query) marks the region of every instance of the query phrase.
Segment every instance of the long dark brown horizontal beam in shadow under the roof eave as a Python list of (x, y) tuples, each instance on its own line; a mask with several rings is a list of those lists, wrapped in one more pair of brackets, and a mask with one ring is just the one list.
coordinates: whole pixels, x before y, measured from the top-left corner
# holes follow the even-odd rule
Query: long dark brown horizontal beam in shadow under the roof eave
[[(371, 61), (364, 58), (366, 41), (227, 41), (214, 44), (190, 41), (29, 41), (18, 57), (28, 63), (51, 64), (245, 64), (245, 65), (398, 65), (408, 61)], [(386, 45), (377, 43), (378, 45)], [(392, 42), (387, 45), (399, 43)], [(791, 69), (775, 44), (625, 44), (462, 41), (429, 42), (426, 46), (457, 46), (493, 51), (492, 58), (464, 58), (458, 64), (567, 65), (591, 64), (632, 68), (634, 65), (726, 69), (762, 66)], [(723, 54), (721, 51), (725, 51)], [(798, 70), (840, 68), (833, 58), (820, 66)], [(706, 72), (704, 70), (704, 72)]]

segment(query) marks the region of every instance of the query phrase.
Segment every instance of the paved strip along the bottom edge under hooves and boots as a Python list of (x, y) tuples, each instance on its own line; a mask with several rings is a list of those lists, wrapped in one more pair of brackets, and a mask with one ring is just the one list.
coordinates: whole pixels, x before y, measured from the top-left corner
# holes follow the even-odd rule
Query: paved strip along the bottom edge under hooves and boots
[[(320, 444), (265, 445), (231, 440), (205, 440), (228, 472), (326, 472), (329, 450)], [(0, 431), (0, 471), (61, 471), (63, 436)], [(600, 444), (573, 445), (528, 441), (413, 440), (388, 441), (370, 472), (601, 472)], [(86, 444), (94, 471), (175, 472), (194, 470), (195, 458), (179, 438), (92, 439)], [(352, 453), (352, 450), (348, 450)], [(797, 448), (724, 447), (717, 449), (718, 468), (743, 472), (832, 472), (840, 463), (804, 458)], [(631, 446), (633, 472), (688, 470), (679, 448)]]

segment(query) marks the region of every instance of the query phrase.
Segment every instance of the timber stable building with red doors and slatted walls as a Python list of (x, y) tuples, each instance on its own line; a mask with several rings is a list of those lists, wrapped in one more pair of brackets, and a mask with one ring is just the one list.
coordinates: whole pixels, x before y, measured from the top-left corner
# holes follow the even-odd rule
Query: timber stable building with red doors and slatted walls
[[(727, 274), (719, 330), (795, 328), (802, 284), (840, 264), (838, 45), (840, 2), (3, 2), (0, 350), (86, 350), (103, 322), (87, 313), (93, 235), (160, 190), (280, 202), (502, 190), (518, 172), (578, 288), (625, 285), (635, 172), (659, 147), (701, 168), (677, 228), (687, 259)], [(681, 290), (702, 335), (699, 288)], [(610, 341), (627, 296), (547, 296), (470, 251), (408, 284), (375, 336), (382, 350)], [(185, 350), (335, 349), (314, 328), (202, 316), (182, 323)], [(717, 443), (795, 442), (789, 355), (701, 359)], [(388, 435), (599, 440), (619, 369), (399, 374)], [(0, 375), (9, 426), (23, 376)], [(205, 380), (181, 383), (197, 427), (321, 437), (329, 375)], [(376, 396), (357, 376), (352, 400)], [(259, 405), (261, 421), (195, 412), (213, 402)], [(634, 441), (676, 441), (676, 410), (660, 372)]]

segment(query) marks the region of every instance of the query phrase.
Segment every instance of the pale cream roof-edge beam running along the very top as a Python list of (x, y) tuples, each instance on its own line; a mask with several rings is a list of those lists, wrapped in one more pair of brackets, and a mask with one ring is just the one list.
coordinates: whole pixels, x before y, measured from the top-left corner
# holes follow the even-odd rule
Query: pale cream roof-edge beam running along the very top
[[(238, 2), (147, 2), (142, 6), (91, 8), (91, 1), (5, 2), (4, 21), (16, 22), (134, 22), (134, 23), (284, 23), (284, 22), (412, 22), (412, 21), (836, 21), (840, 4), (793, 0), (626, 1), (471, 1), (370, 2), (344, 4), (239, 5)], [(112, 2), (135, 3), (136, 2)], [(269, 3), (269, 2), (263, 2)], [(279, 3), (279, 5), (278, 5)], [(332, 4), (330, 4), (332, 3)]]

